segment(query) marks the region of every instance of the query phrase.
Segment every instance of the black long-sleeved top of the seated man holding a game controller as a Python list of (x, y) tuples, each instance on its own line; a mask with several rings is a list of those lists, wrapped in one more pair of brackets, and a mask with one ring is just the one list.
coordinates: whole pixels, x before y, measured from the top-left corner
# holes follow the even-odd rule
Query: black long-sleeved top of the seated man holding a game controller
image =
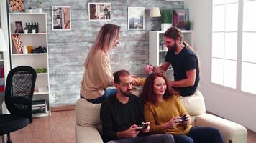
[(100, 116), (104, 142), (116, 140), (118, 139), (116, 132), (144, 122), (143, 104), (135, 95), (129, 97), (129, 102), (126, 104), (122, 104), (116, 96), (113, 96), (102, 102)]

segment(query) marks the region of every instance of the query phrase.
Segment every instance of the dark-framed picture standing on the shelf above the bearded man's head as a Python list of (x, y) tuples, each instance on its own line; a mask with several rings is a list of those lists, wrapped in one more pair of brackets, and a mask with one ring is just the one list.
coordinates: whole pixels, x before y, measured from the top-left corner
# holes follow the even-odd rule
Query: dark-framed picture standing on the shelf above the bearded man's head
[(189, 21), (188, 9), (173, 9), (173, 26), (183, 30), (186, 21)]

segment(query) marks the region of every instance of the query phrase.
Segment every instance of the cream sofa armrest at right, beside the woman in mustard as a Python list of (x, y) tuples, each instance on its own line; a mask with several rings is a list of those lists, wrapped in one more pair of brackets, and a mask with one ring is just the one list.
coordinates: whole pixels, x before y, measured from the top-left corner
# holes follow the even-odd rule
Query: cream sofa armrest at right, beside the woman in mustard
[(196, 117), (196, 126), (215, 127), (221, 132), (224, 143), (229, 140), (232, 143), (246, 143), (247, 142), (247, 129), (240, 124), (231, 122), (221, 117), (216, 117), (212, 114), (201, 114)]

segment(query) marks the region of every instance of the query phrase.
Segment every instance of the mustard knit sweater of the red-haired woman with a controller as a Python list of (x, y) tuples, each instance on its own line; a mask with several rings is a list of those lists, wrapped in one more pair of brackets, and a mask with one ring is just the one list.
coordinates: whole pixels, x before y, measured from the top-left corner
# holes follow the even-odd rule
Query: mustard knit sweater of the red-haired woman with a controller
[(154, 105), (150, 102), (144, 105), (144, 116), (145, 122), (150, 122), (150, 133), (151, 134), (188, 134), (191, 129), (191, 125), (184, 128), (184, 125), (178, 124), (178, 126), (168, 129), (163, 129), (160, 124), (168, 122), (173, 117), (183, 116), (188, 114), (180, 103), (179, 97), (174, 95), (164, 102), (160, 102)]

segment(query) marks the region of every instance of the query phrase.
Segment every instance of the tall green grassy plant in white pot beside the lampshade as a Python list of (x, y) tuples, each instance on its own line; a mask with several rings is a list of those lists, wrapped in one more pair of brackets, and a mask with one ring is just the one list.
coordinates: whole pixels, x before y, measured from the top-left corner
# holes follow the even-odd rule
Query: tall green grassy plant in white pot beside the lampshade
[(161, 10), (161, 29), (166, 31), (168, 28), (173, 26), (173, 10), (172, 9), (163, 9)]

